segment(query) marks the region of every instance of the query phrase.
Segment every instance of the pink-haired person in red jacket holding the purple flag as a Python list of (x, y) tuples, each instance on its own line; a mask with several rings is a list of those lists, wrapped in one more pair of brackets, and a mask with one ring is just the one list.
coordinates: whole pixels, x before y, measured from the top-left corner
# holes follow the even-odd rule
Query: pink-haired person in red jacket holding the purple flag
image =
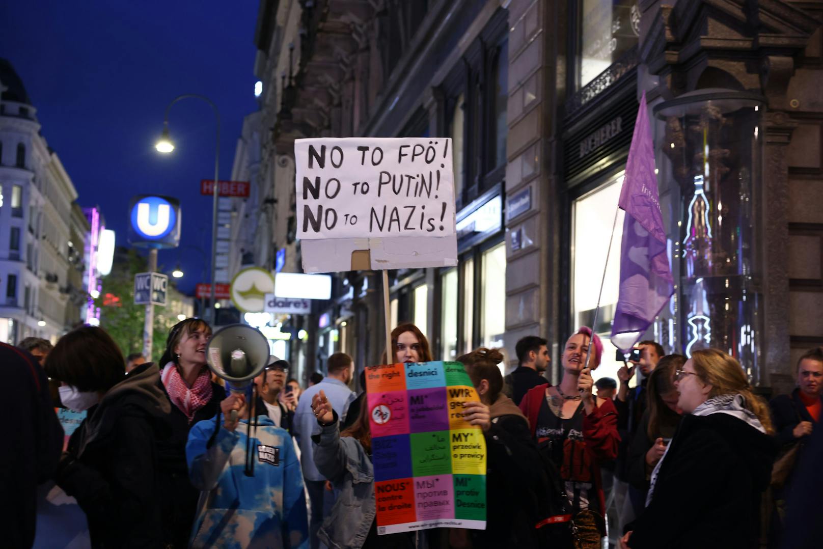
[(590, 372), (600, 365), (602, 354), (600, 337), (591, 328), (579, 328), (565, 343), (560, 384), (537, 385), (520, 402), (538, 449), (555, 464), (565, 484), (576, 549), (602, 547), (606, 505), (600, 463), (616, 458), (620, 444), (614, 403), (592, 393)]

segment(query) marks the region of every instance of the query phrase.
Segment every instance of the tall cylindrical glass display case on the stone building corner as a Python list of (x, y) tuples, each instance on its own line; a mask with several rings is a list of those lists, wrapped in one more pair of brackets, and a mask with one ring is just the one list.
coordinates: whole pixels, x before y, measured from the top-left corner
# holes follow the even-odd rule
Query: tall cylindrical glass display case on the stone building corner
[[(674, 320), (686, 356), (714, 347), (753, 383), (760, 356), (760, 205), (764, 104), (756, 95), (698, 90), (658, 105), (662, 187), (679, 196)], [(677, 280), (677, 279), (676, 279)]]

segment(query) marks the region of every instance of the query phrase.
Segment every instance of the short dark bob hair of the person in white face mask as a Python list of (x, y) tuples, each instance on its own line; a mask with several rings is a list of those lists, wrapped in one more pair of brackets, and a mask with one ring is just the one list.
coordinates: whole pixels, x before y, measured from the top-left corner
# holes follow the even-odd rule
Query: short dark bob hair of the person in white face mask
[(123, 353), (96, 326), (82, 326), (61, 337), (44, 368), (50, 378), (83, 392), (105, 393), (126, 377)]

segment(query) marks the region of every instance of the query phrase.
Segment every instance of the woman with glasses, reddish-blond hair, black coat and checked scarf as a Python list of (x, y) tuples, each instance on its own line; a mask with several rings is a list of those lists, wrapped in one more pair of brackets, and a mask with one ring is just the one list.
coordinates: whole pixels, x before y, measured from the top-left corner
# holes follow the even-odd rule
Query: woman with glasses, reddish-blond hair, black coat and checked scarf
[(717, 349), (694, 351), (675, 387), (685, 415), (621, 547), (756, 547), (777, 454), (769, 408), (740, 363)]

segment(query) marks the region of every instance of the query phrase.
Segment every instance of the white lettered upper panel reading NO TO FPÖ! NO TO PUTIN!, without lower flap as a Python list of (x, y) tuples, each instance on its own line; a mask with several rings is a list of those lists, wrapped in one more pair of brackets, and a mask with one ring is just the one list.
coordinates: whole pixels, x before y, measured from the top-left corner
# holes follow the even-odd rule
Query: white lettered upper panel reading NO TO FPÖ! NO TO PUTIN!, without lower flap
[(301, 240), (450, 236), (448, 137), (298, 139)]

